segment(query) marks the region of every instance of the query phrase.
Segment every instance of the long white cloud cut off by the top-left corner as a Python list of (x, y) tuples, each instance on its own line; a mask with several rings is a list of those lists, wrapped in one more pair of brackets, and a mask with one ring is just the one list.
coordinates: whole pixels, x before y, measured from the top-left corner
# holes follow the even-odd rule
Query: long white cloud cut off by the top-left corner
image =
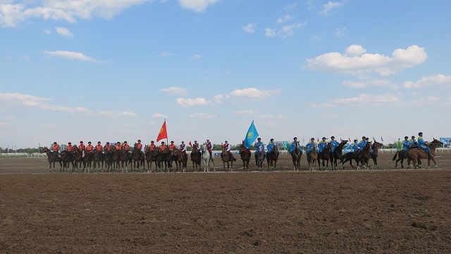
[(44, 20), (66, 20), (76, 23), (78, 18), (90, 19), (92, 16), (111, 19), (124, 8), (138, 6), (149, 0), (61, 0), (61, 1), (24, 1), (25, 4), (13, 4), (13, 1), (1, 1), (0, 25), (16, 27), (29, 18)]

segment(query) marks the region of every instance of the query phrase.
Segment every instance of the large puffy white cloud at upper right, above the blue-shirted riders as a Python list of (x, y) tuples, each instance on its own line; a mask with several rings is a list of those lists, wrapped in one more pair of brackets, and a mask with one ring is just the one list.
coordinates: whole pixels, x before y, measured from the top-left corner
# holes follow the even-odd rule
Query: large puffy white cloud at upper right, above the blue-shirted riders
[[(351, 45), (347, 52), (357, 54), (366, 52), (359, 45)], [(379, 75), (393, 75), (404, 68), (411, 68), (419, 63), (423, 63), (428, 58), (423, 47), (416, 45), (407, 49), (395, 49), (392, 56), (381, 54), (361, 54), (358, 56), (348, 56), (332, 52), (316, 56), (314, 59), (307, 59), (307, 68), (314, 71), (325, 71), (346, 75), (362, 75), (365, 73), (378, 73)]]

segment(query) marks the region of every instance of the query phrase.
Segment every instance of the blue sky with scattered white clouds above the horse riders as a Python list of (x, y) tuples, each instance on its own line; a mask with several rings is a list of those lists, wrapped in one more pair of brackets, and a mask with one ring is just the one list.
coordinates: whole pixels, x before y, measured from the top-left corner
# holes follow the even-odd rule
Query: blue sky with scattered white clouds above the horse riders
[(450, 137), (450, 9), (0, 0), (0, 147)]

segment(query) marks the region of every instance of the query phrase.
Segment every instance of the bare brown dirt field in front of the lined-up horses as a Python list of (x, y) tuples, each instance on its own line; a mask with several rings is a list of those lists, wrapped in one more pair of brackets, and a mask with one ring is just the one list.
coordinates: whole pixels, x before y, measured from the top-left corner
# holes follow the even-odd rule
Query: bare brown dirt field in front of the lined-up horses
[(276, 172), (216, 174), (49, 174), (47, 159), (3, 157), (0, 253), (449, 253), (438, 156), (438, 169), (383, 154), (380, 170), (315, 172), (303, 157), (292, 172), (281, 155)]

